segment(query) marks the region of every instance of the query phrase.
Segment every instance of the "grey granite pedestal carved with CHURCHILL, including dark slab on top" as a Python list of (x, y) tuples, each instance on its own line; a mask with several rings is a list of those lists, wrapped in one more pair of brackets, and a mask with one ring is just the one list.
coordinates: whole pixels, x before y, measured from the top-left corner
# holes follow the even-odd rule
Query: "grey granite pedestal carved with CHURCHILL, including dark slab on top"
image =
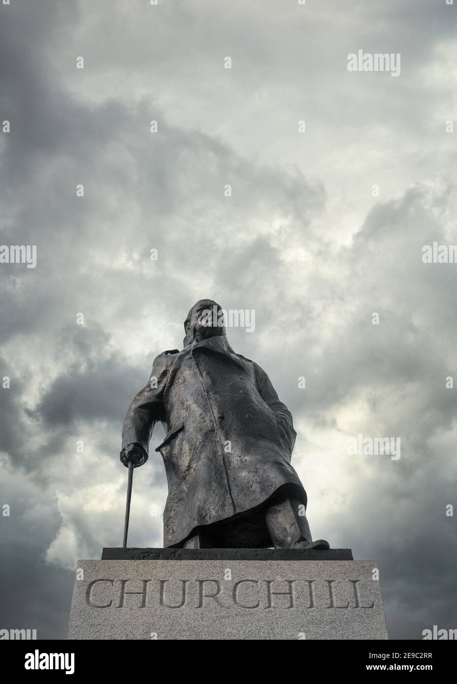
[(376, 561), (335, 560), (352, 558), (349, 549), (104, 549), (103, 557), (120, 560), (79, 561), (69, 639), (388, 638)]

